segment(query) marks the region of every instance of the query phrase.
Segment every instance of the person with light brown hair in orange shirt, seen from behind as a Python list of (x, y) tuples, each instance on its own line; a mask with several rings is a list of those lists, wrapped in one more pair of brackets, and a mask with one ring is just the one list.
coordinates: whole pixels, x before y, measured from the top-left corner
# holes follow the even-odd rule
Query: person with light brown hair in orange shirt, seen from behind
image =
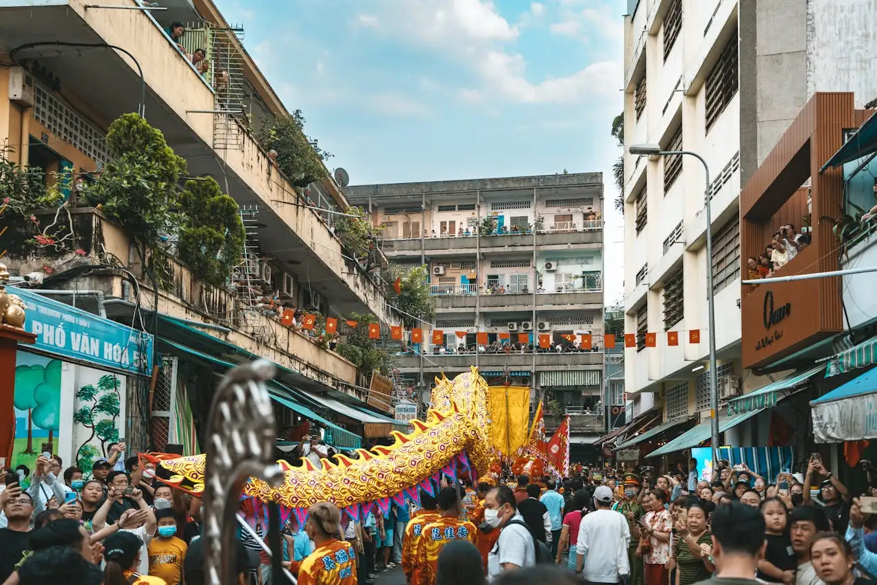
[(310, 506), (304, 531), (314, 542), (314, 552), (298, 569), (299, 585), (355, 585), (356, 553), (349, 542), (339, 540), (341, 510), (334, 503)]

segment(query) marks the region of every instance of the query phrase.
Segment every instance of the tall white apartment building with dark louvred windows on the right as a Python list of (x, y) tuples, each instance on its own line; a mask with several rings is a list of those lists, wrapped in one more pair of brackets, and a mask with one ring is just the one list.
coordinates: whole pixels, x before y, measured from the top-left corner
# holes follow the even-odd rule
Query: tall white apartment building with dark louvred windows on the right
[[(662, 426), (646, 439), (709, 417), (707, 270), (720, 403), (772, 382), (741, 362), (740, 191), (816, 92), (855, 92), (858, 107), (873, 97), (863, 81), (874, 69), (865, 57), (870, 35), (870, 2), (841, 9), (830, 0), (629, 0), (624, 144), (691, 151), (709, 167), (707, 185), (695, 157), (625, 149), (625, 331), (638, 342), (625, 353), (625, 390), (634, 414), (660, 410)], [(806, 177), (802, 182), (795, 188), (808, 189)], [(802, 227), (801, 217), (786, 221)], [(698, 330), (701, 342), (667, 344), (664, 332), (686, 330)], [(646, 332), (657, 333), (657, 346), (645, 346)], [(758, 441), (768, 419), (723, 418), (723, 432)]]

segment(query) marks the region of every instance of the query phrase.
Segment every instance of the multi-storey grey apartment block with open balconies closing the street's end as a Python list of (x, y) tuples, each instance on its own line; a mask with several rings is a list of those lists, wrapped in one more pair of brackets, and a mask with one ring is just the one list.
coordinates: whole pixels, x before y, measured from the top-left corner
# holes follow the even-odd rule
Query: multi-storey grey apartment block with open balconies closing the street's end
[[(429, 269), (436, 317), (424, 327), (441, 330), (444, 343), (396, 356), (403, 377), (428, 384), (440, 373), (478, 365), (488, 382), (501, 383), (508, 373), (512, 383), (540, 389), (556, 404), (546, 417), (549, 427), (571, 413), (576, 441), (602, 431), (601, 174), (361, 185), (345, 192), (386, 225), (381, 248), (390, 262)], [(487, 333), (487, 344), (477, 343), (478, 332)], [(538, 348), (539, 335), (550, 336), (553, 348), (575, 348), (583, 334), (594, 336), (591, 351)], [(483, 351), (476, 353), (479, 345)]]

